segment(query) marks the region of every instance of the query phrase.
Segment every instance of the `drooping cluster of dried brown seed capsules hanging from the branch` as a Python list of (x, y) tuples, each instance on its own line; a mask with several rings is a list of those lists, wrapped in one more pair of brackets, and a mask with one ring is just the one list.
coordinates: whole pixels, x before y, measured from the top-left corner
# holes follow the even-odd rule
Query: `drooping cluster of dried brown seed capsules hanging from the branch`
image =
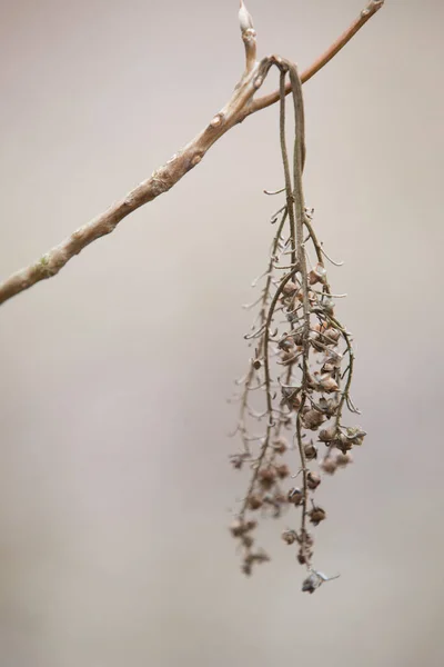
[[(352, 461), (351, 450), (365, 432), (344, 421), (344, 409), (357, 412), (350, 396), (353, 377), (352, 338), (335, 315), (345, 295), (332, 293), (324, 260), (333, 262), (317, 240), (313, 211), (305, 207), (302, 172), (305, 160), (304, 112), (301, 81), (294, 64), (274, 58), (281, 71), (280, 141), (284, 168), (285, 205), (273, 216), (276, 226), (268, 267), (260, 279), (259, 307), (245, 336), (254, 349), (236, 397), (242, 450), (231, 457), (234, 468), (249, 467), (251, 478), (232, 535), (243, 551), (242, 569), (269, 560), (256, 548), (258, 517), (283, 510), (300, 515), (299, 525), (282, 535), (296, 547), (296, 558), (309, 569), (303, 590), (313, 593), (325, 575), (313, 569), (312, 527), (327, 515), (315, 499), (324, 475)], [(293, 173), (285, 139), (285, 78), (290, 74), (295, 120)], [(311, 256), (315, 257), (314, 266)], [(258, 283), (259, 279), (253, 283)], [(262, 404), (262, 407), (260, 407)], [(258, 426), (259, 434), (252, 428)], [(262, 427), (262, 428), (261, 428)], [(291, 456), (297, 452), (297, 458)], [(290, 456), (287, 456), (290, 454)], [(316, 469), (317, 468), (317, 469)], [(294, 479), (294, 484), (293, 484)]]

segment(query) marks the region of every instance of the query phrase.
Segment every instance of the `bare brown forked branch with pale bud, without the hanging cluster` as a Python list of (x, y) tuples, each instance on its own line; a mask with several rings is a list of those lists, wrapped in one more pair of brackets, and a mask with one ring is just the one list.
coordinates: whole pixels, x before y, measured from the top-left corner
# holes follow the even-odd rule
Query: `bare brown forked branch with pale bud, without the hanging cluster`
[[(381, 9), (384, 0), (372, 0), (350, 28), (307, 70), (302, 72), (301, 81), (304, 83), (322, 69)], [(111, 233), (123, 218), (152, 201), (159, 195), (170, 190), (185, 173), (201, 162), (206, 151), (228, 130), (242, 122), (248, 116), (279, 101), (279, 90), (262, 98), (253, 99), (273, 63), (273, 57), (256, 60), (256, 33), (243, 0), (241, 0), (239, 20), (245, 46), (245, 71), (225, 107), (190, 143), (168, 160), (165, 165), (157, 169), (150, 178), (131, 190), (127, 197), (77, 229), (61, 243), (46, 252), (38, 261), (12, 273), (4, 282), (0, 283), (0, 303), (32, 287), (40, 280), (56, 276), (83, 248)], [(287, 83), (285, 94), (290, 92), (291, 84)]]

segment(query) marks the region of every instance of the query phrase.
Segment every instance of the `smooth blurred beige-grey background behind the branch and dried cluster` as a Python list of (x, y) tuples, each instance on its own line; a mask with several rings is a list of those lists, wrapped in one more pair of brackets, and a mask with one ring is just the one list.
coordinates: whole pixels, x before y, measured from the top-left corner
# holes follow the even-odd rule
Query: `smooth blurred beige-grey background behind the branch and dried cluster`
[[(363, 0), (250, 0), (303, 68)], [(1, 276), (148, 177), (229, 98), (235, 0), (1, 2)], [(320, 490), (314, 596), (280, 541), (240, 571), (225, 398), (281, 186), (278, 109), (1, 309), (0, 664), (444, 664), (440, 1), (386, 0), (304, 87), (306, 198), (369, 431)], [(271, 83), (269, 88), (271, 88)], [(273, 83), (274, 87), (274, 83)], [(279, 202), (278, 202), (279, 203)]]

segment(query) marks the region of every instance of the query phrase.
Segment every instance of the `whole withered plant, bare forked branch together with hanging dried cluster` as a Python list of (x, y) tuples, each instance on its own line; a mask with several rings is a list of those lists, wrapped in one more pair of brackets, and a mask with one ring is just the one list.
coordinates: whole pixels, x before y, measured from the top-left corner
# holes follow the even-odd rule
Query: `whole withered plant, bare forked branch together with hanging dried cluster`
[[(56, 276), (89, 243), (109, 235), (132, 211), (170, 190), (202, 161), (228, 130), (279, 102), (284, 187), (269, 195), (282, 193), (284, 203), (272, 218), (275, 233), (262, 276), (264, 282), (258, 301), (251, 306), (258, 306), (259, 312), (245, 336), (253, 355), (246, 376), (239, 382), (236, 432), (242, 449), (231, 460), (234, 468), (248, 466), (251, 477), (231, 531), (240, 540), (242, 569), (249, 575), (254, 564), (269, 560), (255, 545), (258, 517), (266, 514), (279, 517), (285, 509), (293, 512), (293, 522), (296, 508), (299, 524), (285, 530), (282, 537), (286, 544), (296, 546), (297, 560), (309, 570), (303, 590), (310, 593), (327, 579), (313, 567), (311, 528), (326, 518), (325, 509), (315, 501), (316, 488), (324, 475), (332, 475), (351, 462), (351, 449), (362, 444), (365, 434), (360, 427), (351, 426), (344, 415), (345, 410), (357, 412), (351, 398), (352, 337), (336, 315), (336, 300), (343, 295), (335, 295), (330, 287), (326, 261), (335, 262), (317, 239), (313, 210), (306, 207), (304, 199), (302, 83), (322, 69), (383, 3), (384, 0), (371, 0), (350, 28), (299, 74), (293, 62), (279, 56), (258, 60), (253, 21), (241, 0), (239, 20), (245, 70), (223, 109), (190, 143), (122, 200), (0, 283), (0, 303), (3, 303)], [(280, 72), (279, 89), (256, 98), (272, 68)], [(287, 94), (294, 132), (290, 156), (285, 138)], [(260, 432), (252, 430), (253, 424), (258, 424)], [(294, 484), (290, 485), (292, 479)]]

